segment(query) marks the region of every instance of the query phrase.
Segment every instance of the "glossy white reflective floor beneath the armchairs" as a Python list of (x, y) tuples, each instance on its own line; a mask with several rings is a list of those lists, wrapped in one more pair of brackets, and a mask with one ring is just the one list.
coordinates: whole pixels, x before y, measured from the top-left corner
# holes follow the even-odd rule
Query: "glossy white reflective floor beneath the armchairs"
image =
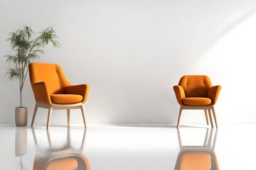
[(219, 169), (254, 170), (255, 131), (256, 125), (0, 125), (0, 169), (39, 170), (55, 157), (79, 156), (86, 160), (82, 169), (167, 170), (181, 163), (179, 153), (189, 146), (210, 151)]

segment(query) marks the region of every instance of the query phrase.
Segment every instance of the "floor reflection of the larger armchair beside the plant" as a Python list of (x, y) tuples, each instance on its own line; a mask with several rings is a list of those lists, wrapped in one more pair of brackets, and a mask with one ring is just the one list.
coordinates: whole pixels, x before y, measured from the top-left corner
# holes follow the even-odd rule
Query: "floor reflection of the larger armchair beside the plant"
[(43, 149), (43, 147), (38, 145), (34, 128), (31, 129), (33, 132), (33, 140), (36, 145), (36, 156), (33, 163), (33, 170), (90, 170), (88, 159), (83, 154), (86, 130), (82, 130), (83, 137), (79, 149), (75, 149), (75, 147), (72, 147), (71, 145), (70, 128), (68, 128), (66, 144), (60, 148), (53, 147), (50, 131), (46, 130), (48, 149)]

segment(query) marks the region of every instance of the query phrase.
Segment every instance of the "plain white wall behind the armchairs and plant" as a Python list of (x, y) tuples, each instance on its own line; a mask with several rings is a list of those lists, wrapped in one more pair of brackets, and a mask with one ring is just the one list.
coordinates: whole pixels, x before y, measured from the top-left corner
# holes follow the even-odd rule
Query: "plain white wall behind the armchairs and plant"
[[(207, 74), (223, 86), (219, 123), (256, 123), (255, 0), (0, 0), (0, 123), (14, 123), (18, 82), (4, 76), (8, 33), (53, 26), (61, 49), (46, 47), (38, 62), (58, 63), (73, 84), (90, 84), (87, 123), (176, 123), (172, 86), (184, 74)], [(34, 98), (23, 90), (31, 123)], [(39, 109), (36, 123), (46, 123)], [(73, 111), (71, 123), (82, 123)], [(53, 111), (51, 123), (65, 123)], [(184, 111), (182, 123), (204, 123)]]

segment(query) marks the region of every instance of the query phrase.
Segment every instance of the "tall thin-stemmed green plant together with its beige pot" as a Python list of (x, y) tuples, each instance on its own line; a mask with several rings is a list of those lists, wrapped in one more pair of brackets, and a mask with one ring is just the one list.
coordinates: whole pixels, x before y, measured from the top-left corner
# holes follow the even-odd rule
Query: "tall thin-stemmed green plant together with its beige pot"
[(49, 27), (36, 36), (29, 26), (23, 26), (18, 30), (10, 33), (10, 37), (6, 40), (11, 44), (11, 50), (14, 55), (6, 55), (6, 63), (9, 68), (6, 71), (6, 77), (9, 79), (18, 79), (20, 106), (15, 108), (16, 126), (27, 125), (27, 107), (22, 105), (22, 89), (28, 75), (28, 64), (42, 55), (43, 47), (52, 43), (53, 47), (60, 47), (57, 35), (53, 28)]

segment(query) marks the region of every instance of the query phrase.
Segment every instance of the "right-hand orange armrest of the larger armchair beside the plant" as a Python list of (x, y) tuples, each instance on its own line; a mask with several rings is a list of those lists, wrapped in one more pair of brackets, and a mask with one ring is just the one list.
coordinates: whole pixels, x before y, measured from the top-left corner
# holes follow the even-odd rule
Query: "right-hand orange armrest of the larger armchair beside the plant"
[(82, 103), (87, 100), (90, 86), (88, 84), (71, 85), (65, 87), (66, 94), (79, 94), (82, 96)]

